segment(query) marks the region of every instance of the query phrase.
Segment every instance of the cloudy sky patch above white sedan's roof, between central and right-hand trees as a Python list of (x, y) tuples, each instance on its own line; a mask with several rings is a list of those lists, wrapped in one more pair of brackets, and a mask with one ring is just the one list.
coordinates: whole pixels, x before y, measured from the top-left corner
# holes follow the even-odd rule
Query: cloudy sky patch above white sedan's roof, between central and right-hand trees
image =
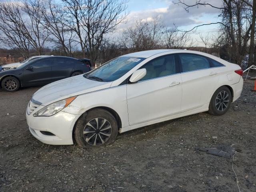
[[(136, 20), (148, 20), (154, 16), (160, 16), (164, 26), (174, 28), (174, 24), (180, 30), (190, 30), (199, 24), (207, 24), (218, 21), (219, 10), (210, 6), (195, 6), (189, 8), (189, 12), (184, 10), (182, 4), (174, 4), (177, 0), (129, 0), (127, 6), (130, 14), (125, 24), (120, 24), (118, 30), (134, 25)], [(196, 0), (184, 0), (186, 4), (194, 4)], [(214, 6), (221, 7), (222, 0), (203, 0)], [(202, 26), (198, 28), (198, 33), (206, 35), (217, 32), (217, 25)], [(198, 34), (191, 33), (194, 40), (200, 40)], [(203, 46), (202, 43), (198, 43)]]

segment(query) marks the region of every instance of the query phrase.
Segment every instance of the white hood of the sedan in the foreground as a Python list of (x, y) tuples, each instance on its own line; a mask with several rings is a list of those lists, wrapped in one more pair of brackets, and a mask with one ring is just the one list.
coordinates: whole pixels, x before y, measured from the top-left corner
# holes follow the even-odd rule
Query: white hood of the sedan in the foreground
[(36, 100), (46, 106), (65, 98), (109, 88), (111, 83), (89, 80), (83, 75), (78, 75), (53, 82), (40, 88), (34, 93), (32, 100)]

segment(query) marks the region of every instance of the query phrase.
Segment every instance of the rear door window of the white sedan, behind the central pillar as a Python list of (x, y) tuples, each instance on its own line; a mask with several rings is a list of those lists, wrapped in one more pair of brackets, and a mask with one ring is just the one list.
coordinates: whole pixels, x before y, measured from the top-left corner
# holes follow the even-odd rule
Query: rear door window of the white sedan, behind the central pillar
[(204, 56), (194, 54), (179, 54), (182, 72), (210, 68), (210, 62)]

